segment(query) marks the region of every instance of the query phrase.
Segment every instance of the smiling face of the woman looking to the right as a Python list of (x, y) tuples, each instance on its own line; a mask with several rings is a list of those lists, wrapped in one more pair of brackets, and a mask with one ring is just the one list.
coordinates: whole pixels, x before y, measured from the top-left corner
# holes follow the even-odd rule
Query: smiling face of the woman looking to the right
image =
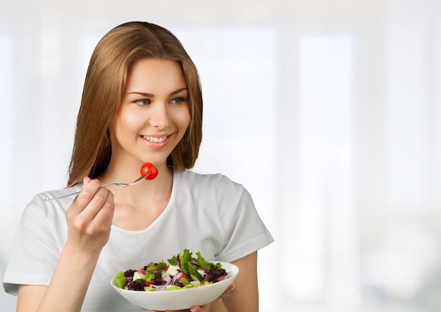
[(166, 166), (190, 124), (187, 97), (177, 62), (143, 58), (134, 63), (118, 114), (109, 126), (112, 160)]

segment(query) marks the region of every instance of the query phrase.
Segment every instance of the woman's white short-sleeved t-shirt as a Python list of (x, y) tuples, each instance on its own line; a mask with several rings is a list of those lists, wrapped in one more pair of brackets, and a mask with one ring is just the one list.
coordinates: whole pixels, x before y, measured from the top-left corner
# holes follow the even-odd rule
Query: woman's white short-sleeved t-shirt
[[(17, 294), (23, 284), (49, 285), (67, 239), (66, 209), (72, 197), (44, 198), (80, 189), (75, 185), (38, 194), (25, 208), (4, 275), (6, 292)], [(220, 174), (175, 170), (170, 201), (154, 223), (139, 231), (112, 225), (82, 311), (145, 311), (111, 289), (110, 280), (119, 271), (167, 261), (184, 249), (200, 251), (207, 260), (231, 262), (271, 242), (273, 237), (242, 185)]]

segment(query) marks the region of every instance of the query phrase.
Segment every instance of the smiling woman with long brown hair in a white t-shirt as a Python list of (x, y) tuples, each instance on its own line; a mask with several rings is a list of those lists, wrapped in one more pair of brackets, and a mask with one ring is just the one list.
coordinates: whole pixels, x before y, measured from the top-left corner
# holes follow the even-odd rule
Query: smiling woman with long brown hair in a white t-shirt
[[(248, 192), (192, 173), (201, 143), (197, 69), (168, 30), (125, 23), (92, 54), (68, 188), (38, 194), (23, 213), (4, 277), (17, 311), (142, 311), (109, 280), (183, 249), (235, 263), (221, 299), (190, 311), (258, 311), (257, 250), (273, 241)], [(144, 163), (154, 180), (131, 187)], [(72, 197), (46, 197), (80, 191)], [(234, 294), (234, 295), (232, 295)], [(188, 311), (188, 310), (187, 310)]]

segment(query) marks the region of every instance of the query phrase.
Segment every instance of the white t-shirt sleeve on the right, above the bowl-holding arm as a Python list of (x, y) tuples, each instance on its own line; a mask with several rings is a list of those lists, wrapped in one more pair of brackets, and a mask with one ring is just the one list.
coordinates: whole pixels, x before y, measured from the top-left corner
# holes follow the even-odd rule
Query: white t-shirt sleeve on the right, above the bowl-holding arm
[(224, 246), (218, 261), (231, 262), (273, 242), (251, 195), (242, 185), (218, 175), (216, 199), (224, 232)]

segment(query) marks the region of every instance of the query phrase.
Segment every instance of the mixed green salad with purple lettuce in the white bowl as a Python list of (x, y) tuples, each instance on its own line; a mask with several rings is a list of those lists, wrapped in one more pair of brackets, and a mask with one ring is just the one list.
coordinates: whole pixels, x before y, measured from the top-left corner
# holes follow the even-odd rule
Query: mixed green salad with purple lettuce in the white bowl
[(210, 285), (230, 276), (221, 263), (206, 261), (199, 251), (196, 258), (192, 254), (184, 249), (182, 254), (168, 259), (168, 263), (150, 262), (139, 270), (119, 272), (115, 285), (122, 289), (155, 292)]

